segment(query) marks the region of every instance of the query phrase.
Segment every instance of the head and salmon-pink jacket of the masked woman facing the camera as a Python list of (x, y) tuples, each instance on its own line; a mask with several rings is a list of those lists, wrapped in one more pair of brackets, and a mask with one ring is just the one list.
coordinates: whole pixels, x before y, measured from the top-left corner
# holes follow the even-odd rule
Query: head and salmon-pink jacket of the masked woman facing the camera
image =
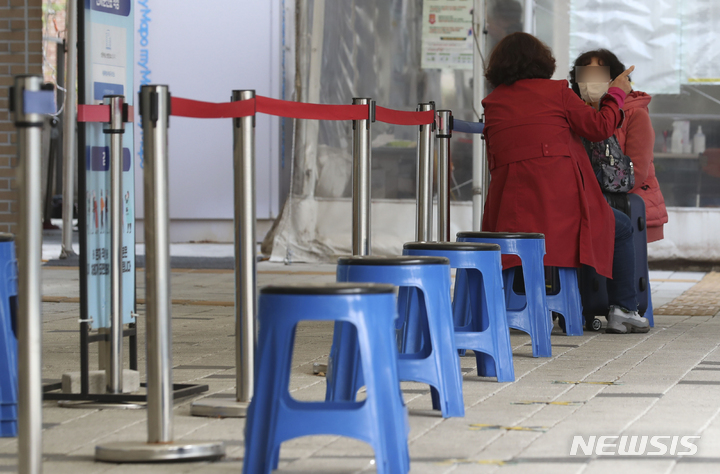
[[(584, 66), (605, 66), (598, 68), (606, 77), (599, 78), (591, 87), (583, 87), (581, 93), (578, 84), (577, 70)], [(585, 103), (598, 108), (600, 98), (607, 92), (607, 85), (612, 79), (622, 74), (625, 65), (612, 52), (607, 49), (598, 49), (581, 54), (570, 71), (570, 84), (575, 93)], [(597, 87), (600, 86), (600, 87)], [(668, 221), (665, 199), (660, 192), (660, 183), (655, 177), (653, 163), (655, 146), (655, 130), (652, 128), (648, 104), (649, 94), (640, 91), (631, 91), (625, 98), (625, 123), (615, 131), (615, 137), (620, 143), (623, 153), (630, 157), (635, 170), (635, 187), (633, 194), (637, 194), (645, 201), (645, 220), (647, 222), (648, 242), (663, 239), (663, 225)]]

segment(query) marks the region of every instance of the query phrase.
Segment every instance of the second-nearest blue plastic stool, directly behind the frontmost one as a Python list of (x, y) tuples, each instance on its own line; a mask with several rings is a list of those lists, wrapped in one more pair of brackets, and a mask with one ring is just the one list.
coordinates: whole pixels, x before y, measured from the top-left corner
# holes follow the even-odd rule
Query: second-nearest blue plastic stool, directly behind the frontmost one
[[(438, 257), (343, 257), (337, 266), (338, 281), (400, 287), (398, 305), (405, 317), (399, 321), (407, 321), (398, 361), (400, 380), (430, 385), (433, 408), (446, 418), (465, 416), (448, 263)], [(355, 332), (345, 323), (335, 324), (327, 374), (328, 400), (355, 400), (362, 387)]]

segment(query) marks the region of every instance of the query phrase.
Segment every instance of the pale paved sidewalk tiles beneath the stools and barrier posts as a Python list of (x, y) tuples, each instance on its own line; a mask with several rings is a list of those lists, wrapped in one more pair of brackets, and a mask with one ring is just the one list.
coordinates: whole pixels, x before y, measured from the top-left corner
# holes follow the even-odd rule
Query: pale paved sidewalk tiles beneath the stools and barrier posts
[[(333, 265), (262, 262), (258, 265), (258, 285), (331, 282), (334, 274)], [(611, 335), (601, 331), (568, 337), (556, 327), (553, 357), (536, 359), (529, 337), (511, 331), (514, 383), (479, 377), (472, 353), (461, 357), (464, 418), (443, 419), (431, 409), (426, 385), (403, 382), (410, 415), (411, 472), (720, 472), (720, 275), (651, 272), (650, 277), (653, 297), (659, 304), (655, 328), (647, 334)], [(144, 278), (144, 272), (138, 272), (139, 299), (144, 298)], [(43, 271), (43, 280), (43, 377), (49, 381), (79, 367), (77, 269), (48, 268)], [(174, 436), (183, 441), (222, 441), (225, 459), (132, 466), (96, 463), (93, 454), (98, 444), (146, 439), (145, 410), (62, 408), (56, 402), (45, 402), (45, 472), (240, 472), (245, 421), (190, 416), (193, 400), (235, 395), (233, 292), (231, 271), (172, 272), (174, 381), (209, 387), (208, 392), (175, 404)], [(144, 305), (139, 305), (138, 313), (140, 341), (144, 341)], [(327, 364), (332, 329), (329, 323), (306, 322), (296, 331), (290, 390), (298, 400), (324, 398), (325, 378), (315, 373), (314, 364)], [(93, 368), (97, 360), (93, 344)], [(139, 367), (144, 381), (142, 343)], [(617, 445), (626, 443), (624, 447), (633, 436), (637, 440), (667, 436), (656, 440), (667, 441), (667, 453), (602, 455), (593, 445), (589, 455), (580, 448), (571, 455), (576, 436), (584, 443), (593, 436), (608, 436), (610, 445), (615, 441)], [(682, 436), (699, 436), (691, 438), (696, 440), (695, 455), (677, 454)], [(674, 448), (673, 437), (677, 437)], [(646, 451), (650, 451), (648, 443)], [(608, 449), (617, 452), (618, 446)], [(15, 472), (16, 466), (17, 441), (0, 438), (0, 473)], [(376, 470), (369, 446), (336, 436), (284, 443), (279, 467), (279, 472), (286, 473)]]

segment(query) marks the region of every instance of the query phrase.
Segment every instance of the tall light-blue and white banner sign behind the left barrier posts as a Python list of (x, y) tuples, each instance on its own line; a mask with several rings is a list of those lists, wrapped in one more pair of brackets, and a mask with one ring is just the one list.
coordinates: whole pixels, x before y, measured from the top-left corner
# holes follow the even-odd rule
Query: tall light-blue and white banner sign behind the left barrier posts
[[(135, 101), (133, 85), (133, 0), (85, 0), (84, 104), (102, 104), (106, 95)], [(95, 328), (110, 326), (110, 135), (101, 123), (85, 124), (85, 252), (87, 317)], [(80, 144), (82, 146), (82, 144)], [(125, 126), (122, 173), (123, 324), (134, 322), (135, 309), (135, 182), (133, 127)], [(83, 192), (82, 190), (80, 191)]]

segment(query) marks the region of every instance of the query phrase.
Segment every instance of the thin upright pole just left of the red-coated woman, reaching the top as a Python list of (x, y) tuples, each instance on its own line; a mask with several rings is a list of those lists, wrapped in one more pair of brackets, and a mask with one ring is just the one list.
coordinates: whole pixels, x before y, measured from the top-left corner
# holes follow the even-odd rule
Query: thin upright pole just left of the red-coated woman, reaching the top
[[(473, 3), (473, 110), (478, 120), (483, 120), (482, 100), (485, 98), (485, 68), (483, 49), (485, 48), (485, 0), (474, 0)], [(487, 159), (485, 156), (485, 140), (482, 135), (473, 135), (473, 230), (482, 227), (483, 207), (485, 206), (485, 175)]]

